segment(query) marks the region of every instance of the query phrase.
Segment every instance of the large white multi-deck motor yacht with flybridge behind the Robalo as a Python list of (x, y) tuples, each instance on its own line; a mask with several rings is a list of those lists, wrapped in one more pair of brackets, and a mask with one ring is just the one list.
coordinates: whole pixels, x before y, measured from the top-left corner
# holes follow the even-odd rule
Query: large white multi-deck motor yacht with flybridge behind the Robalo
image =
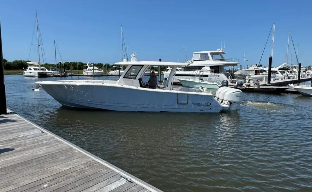
[[(205, 70), (203, 80), (208, 82), (222, 82), (228, 80), (228, 74), (224, 67), (237, 66), (238, 59), (225, 59), (226, 54), (222, 48), (215, 51), (199, 51), (193, 53), (193, 58), (188, 66), (183, 67), (183, 71), (177, 71), (173, 82), (179, 82), (178, 79), (190, 79), (195, 77), (196, 70)], [(168, 79), (171, 70), (164, 73)]]

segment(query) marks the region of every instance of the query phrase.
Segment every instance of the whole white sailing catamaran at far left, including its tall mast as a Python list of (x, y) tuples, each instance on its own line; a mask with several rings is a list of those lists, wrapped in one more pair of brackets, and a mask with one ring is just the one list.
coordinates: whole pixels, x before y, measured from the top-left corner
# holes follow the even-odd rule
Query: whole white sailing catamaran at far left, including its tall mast
[(52, 71), (47, 70), (44, 67), (41, 67), (40, 64), (40, 50), (42, 55), (42, 62), (44, 63), (43, 55), (44, 50), (42, 45), (42, 39), (41, 34), (39, 30), (39, 23), (38, 23), (38, 17), (37, 17), (37, 10), (36, 12), (36, 26), (37, 26), (37, 45), (38, 45), (38, 61), (37, 62), (27, 62), (27, 69), (24, 71), (23, 75), (26, 77), (53, 77)]

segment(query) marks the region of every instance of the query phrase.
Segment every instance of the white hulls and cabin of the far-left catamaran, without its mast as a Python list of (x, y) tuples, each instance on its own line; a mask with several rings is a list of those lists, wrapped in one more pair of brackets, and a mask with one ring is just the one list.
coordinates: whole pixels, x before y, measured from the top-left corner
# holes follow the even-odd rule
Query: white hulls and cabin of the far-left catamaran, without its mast
[(39, 62), (27, 62), (27, 64), (27, 69), (23, 73), (25, 77), (53, 77), (53, 72), (40, 67)]

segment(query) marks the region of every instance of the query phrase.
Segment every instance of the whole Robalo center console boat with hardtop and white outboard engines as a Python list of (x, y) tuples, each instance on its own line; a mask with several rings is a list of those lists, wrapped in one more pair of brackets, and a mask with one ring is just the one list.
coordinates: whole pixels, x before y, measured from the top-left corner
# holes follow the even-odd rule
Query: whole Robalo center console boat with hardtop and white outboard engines
[[(172, 86), (177, 67), (187, 63), (134, 61), (117, 62), (127, 65), (118, 81), (112, 80), (67, 80), (36, 82), (62, 105), (77, 108), (116, 111), (148, 112), (198, 112), (219, 113), (237, 110), (242, 102), (241, 90), (222, 87), (218, 98), (204, 92), (201, 87), (185, 88)], [(170, 66), (171, 73), (156, 89), (146, 88), (142, 77), (150, 66)]]

